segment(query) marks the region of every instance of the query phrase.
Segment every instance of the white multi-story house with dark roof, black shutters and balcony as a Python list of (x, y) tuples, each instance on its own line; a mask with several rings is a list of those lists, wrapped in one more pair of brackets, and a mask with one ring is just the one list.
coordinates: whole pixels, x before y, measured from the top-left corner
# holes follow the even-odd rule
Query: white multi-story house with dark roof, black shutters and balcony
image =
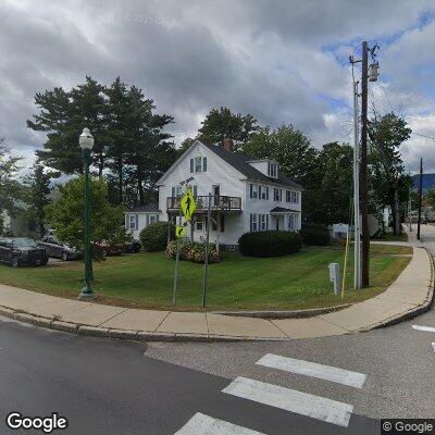
[(202, 241), (211, 194), (210, 241), (234, 248), (249, 232), (299, 231), (302, 187), (282, 174), (274, 160), (233, 151), (233, 141), (196, 140), (159, 179), (160, 220), (179, 222), (179, 200), (189, 179), (197, 208), (186, 236)]

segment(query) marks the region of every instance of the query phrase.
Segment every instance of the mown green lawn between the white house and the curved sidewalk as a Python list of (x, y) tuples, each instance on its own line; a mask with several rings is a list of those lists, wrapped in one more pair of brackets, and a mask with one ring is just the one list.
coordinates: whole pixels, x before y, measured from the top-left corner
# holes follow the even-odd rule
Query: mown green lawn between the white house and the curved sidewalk
[[(327, 265), (340, 263), (344, 249), (306, 248), (291, 256), (256, 259), (227, 252), (209, 269), (208, 309), (308, 309), (364, 300), (382, 293), (410, 261), (411, 249), (372, 246), (371, 287), (355, 291), (352, 252), (345, 298), (333, 294)], [(75, 298), (82, 286), (83, 264), (12, 269), (0, 265), (0, 283), (46, 294)], [(178, 306), (199, 310), (202, 264), (179, 265)], [(163, 252), (109, 258), (95, 264), (94, 288), (101, 303), (136, 308), (169, 308), (172, 303), (174, 261)]]

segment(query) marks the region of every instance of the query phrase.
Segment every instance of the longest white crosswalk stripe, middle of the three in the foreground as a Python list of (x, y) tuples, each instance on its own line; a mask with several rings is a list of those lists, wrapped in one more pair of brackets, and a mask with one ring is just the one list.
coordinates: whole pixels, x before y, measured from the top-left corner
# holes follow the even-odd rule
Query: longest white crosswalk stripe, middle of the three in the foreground
[(353, 407), (264, 382), (236, 377), (222, 393), (347, 427)]

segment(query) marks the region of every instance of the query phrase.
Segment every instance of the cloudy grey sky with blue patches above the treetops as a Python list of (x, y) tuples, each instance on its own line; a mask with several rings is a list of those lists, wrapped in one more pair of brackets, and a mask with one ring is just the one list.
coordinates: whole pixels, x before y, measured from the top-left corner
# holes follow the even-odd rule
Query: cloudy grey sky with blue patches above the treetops
[(293, 123), (315, 146), (351, 140), (349, 54), (381, 46), (370, 107), (405, 116), (402, 146), (435, 172), (434, 0), (0, 0), (0, 137), (30, 163), (35, 92), (91, 75), (141, 87), (175, 142), (211, 108)]

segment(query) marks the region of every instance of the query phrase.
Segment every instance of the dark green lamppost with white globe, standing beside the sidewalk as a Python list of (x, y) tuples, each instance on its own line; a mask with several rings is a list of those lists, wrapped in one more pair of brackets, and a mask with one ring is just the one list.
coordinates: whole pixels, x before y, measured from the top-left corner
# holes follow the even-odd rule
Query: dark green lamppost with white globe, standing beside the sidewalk
[(90, 151), (94, 147), (94, 137), (89, 132), (89, 128), (84, 128), (79, 137), (79, 145), (83, 149), (83, 160), (85, 165), (85, 189), (84, 189), (84, 201), (85, 201), (85, 228), (84, 228), (84, 257), (85, 257), (85, 286), (78, 296), (78, 299), (95, 299), (96, 294), (94, 293), (90, 281), (91, 281), (91, 252), (90, 252), (90, 202), (89, 202), (89, 165), (90, 165)]

